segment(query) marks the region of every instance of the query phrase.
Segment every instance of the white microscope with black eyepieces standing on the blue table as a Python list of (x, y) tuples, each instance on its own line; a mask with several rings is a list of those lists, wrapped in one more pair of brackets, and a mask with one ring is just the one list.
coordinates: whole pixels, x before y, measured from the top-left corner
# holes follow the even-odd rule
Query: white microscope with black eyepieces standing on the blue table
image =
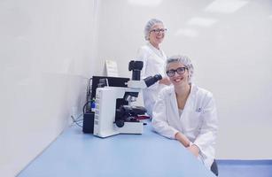
[(142, 68), (143, 61), (129, 62), (128, 71), (132, 71), (132, 78), (126, 83), (127, 88), (97, 88), (94, 135), (104, 138), (118, 134), (143, 134), (144, 123), (138, 116), (144, 115), (146, 110), (131, 103), (136, 101), (141, 89), (150, 87), (162, 77), (156, 74), (141, 80)]

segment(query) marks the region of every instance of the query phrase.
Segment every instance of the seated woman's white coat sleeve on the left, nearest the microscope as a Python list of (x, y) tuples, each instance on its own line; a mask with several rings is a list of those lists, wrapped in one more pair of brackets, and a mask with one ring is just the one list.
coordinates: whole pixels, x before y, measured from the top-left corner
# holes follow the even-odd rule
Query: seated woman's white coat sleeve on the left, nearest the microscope
[(170, 139), (175, 139), (175, 134), (178, 132), (174, 127), (170, 127), (167, 123), (167, 109), (166, 99), (167, 94), (163, 93), (164, 90), (159, 92), (159, 97), (154, 105), (152, 112), (152, 127), (160, 135), (166, 136)]

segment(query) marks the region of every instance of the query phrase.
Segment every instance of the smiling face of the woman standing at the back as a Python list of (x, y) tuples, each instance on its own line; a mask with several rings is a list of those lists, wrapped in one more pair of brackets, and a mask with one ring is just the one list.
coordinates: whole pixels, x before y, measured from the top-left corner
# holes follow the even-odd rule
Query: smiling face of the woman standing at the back
[(161, 43), (163, 41), (165, 32), (159, 31), (159, 33), (157, 33), (156, 31), (152, 31), (152, 30), (164, 29), (164, 28), (165, 27), (161, 23), (157, 23), (150, 30), (149, 41), (156, 48), (159, 48), (159, 43)]

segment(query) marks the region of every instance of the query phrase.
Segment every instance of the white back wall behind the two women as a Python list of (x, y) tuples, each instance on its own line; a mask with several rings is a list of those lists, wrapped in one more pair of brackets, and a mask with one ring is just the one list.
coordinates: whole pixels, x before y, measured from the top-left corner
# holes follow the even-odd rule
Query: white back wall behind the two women
[[(100, 2), (96, 73), (102, 73), (105, 59), (113, 59), (120, 76), (130, 77), (128, 61), (144, 44), (146, 21), (162, 19), (168, 29), (162, 48), (168, 56), (188, 55), (196, 66), (195, 82), (216, 98), (217, 158), (271, 159), (272, 2), (227, 1), (241, 6), (229, 13), (206, 11), (213, 0), (131, 2), (140, 1)], [(197, 17), (212, 20), (190, 21)]]

